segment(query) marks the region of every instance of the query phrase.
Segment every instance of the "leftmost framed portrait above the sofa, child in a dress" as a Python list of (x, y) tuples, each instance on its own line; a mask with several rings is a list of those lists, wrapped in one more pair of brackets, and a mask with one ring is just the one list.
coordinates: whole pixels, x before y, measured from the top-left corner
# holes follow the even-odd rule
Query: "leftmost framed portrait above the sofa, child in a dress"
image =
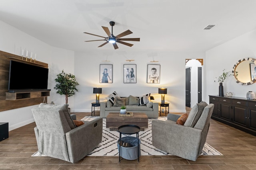
[(100, 64), (100, 83), (113, 82), (113, 64)]

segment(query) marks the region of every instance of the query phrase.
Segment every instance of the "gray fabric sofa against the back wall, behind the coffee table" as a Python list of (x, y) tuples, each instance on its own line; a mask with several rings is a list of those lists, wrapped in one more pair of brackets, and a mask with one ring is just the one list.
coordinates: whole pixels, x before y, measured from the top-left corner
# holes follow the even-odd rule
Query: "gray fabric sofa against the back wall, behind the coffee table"
[[(148, 118), (158, 118), (158, 102), (154, 102), (152, 100), (150, 103), (142, 106), (138, 106), (138, 104), (135, 103), (129, 105), (129, 102), (126, 100), (126, 110), (133, 113), (146, 113)], [(113, 112), (119, 114), (120, 106), (115, 107), (111, 105), (108, 100), (100, 102), (100, 117), (107, 117), (108, 113)]]

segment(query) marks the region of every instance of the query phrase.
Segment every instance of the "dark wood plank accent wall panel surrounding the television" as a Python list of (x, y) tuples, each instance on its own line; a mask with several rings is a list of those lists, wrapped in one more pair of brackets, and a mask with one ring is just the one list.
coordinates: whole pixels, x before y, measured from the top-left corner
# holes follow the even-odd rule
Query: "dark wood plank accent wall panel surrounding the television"
[[(43, 102), (44, 98), (47, 101), (47, 96), (42, 96), (38, 98), (26, 98), (22, 100), (6, 100), (6, 92), (8, 92), (10, 60), (16, 60), (22, 63), (28, 63), (32, 65), (40, 65), (44, 68), (48, 68), (47, 63), (42, 63), (40, 61), (34, 60), (31, 60), (30, 62), (30, 59), (26, 61), (25, 57), (23, 57), (22, 59), (21, 56), (0, 51), (0, 111), (40, 104)], [(27, 73), (21, 71), (20, 74)]]

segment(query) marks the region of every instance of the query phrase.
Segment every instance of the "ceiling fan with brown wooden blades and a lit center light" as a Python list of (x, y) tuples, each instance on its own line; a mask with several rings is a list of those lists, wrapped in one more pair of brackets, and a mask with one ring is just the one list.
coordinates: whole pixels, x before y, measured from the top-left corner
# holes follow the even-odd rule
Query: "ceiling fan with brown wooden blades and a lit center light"
[[(92, 34), (92, 33), (86, 33), (86, 32), (84, 32), (84, 33), (104, 38), (104, 39), (99, 39), (99, 40), (90, 40), (90, 41), (106, 41), (105, 43), (103, 43), (102, 45), (100, 45), (98, 47), (102, 47), (103, 45), (106, 45), (107, 43), (112, 43), (113, 46), (114, 46), (114, 49), (118, 49), (118, 46), (116, 45), (116, 43), (121, 43), (121, 44), (124, 44), (124, 45), (128, 45), (129, 47), (132, 47), (133, 44), (126, 43), (124, 41), (140, 41), (140, 38), (121, 38), (121, 37), (124, 37), (125, 35), (129, 35), (129, 34), (132, 33), (132, 31), (130, 31), (129, 29), (127, 31), (124, 31), (124, 32), (114, 36), (113, 35), (113, 26), (115, 25), (115, 22), (110, 21), (109, 24), (112, 27), (112, 32), (111, 33), (110, 33), (108, 27), (103, 27), (102, 26), (104, 31), (107, 33), (108, 37), (103, 37), (103, 36), (95, 35), (95, 34)], [(85, 41), (85, 42), (90, 42), (90, 41)]]

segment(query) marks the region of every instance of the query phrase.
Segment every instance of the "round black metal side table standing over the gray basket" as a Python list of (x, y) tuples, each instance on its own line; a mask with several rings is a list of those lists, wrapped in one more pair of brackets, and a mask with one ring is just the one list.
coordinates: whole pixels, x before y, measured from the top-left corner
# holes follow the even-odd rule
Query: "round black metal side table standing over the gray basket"
[[(122, 125), (122, 126), (118, 127), (118, 132), (120, 134), (119, 141), (121, 141), (122, 134), (125, 134), (125, 135), (136, 134), (136, 138), (138, 140), (138, 146), (137, 146), (138, 147), (138, 162), (140, 161), (139, 131), (140, 131), (140, 127), (138, 127), (136, 125)], [(119, 162), (120, 162), (120, 155), (121, 155), (121, 145), (119, 145)]]

